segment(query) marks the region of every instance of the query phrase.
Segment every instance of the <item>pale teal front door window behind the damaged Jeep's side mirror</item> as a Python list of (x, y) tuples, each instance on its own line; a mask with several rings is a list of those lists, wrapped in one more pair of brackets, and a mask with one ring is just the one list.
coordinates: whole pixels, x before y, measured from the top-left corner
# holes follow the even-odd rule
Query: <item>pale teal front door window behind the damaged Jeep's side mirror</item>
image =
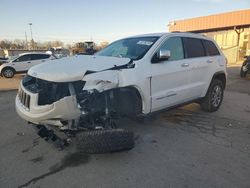
[(170, 51), (170, 61), (184, 59), (182, 41), (180, 37), (172, 37), (167, 39), (161, 46), (160, 50)]

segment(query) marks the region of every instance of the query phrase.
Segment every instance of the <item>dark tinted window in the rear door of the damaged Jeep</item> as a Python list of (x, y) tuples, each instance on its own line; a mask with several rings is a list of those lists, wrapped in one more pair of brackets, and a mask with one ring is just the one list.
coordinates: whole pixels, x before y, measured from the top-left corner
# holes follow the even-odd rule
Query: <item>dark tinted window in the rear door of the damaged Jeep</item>
[(186, 58), (206, 56), (204, 47), (200, 39), (183, 38), (183, 42)]

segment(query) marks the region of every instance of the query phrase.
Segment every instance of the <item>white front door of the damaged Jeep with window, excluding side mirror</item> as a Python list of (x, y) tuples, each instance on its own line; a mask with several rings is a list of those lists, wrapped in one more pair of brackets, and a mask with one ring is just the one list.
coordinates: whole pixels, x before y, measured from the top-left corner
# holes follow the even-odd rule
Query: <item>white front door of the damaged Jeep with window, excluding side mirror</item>
[[(169, 50), (171, 55), (168, 60), (151, 64), (151, 111), (183, 103), (189, 92), (189, 67), (184, 59), (181, 38), (166, 39), (157, 52), (160, 50)], [(153, 59), (156, 58), (157, 52)]]

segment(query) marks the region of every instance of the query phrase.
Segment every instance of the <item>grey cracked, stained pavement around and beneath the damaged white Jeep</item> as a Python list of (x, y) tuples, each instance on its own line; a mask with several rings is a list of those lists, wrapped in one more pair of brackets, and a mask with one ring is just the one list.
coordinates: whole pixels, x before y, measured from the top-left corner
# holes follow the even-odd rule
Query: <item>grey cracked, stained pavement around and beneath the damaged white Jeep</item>
[(219, 111), (190, 104), (123, 120), (135, 148), (99, 155), (57, 151), (17, 116), (16, 91), (0, 91), (0, 187), (250, 187), (250, 77), (228, 73)]

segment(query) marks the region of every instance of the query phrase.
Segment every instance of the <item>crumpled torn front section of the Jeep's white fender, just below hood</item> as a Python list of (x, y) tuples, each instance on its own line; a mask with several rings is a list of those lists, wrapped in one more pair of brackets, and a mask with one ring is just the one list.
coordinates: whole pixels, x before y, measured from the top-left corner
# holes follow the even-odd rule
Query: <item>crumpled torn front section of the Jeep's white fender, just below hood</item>
[(119, 71), (107, 70), (103, 72), (97, 72), (88, 74), (83, 77), (85, 85), (83, 90), (97, 90), (103, 92), (112, 88), (116, 88), (119, 85)]

